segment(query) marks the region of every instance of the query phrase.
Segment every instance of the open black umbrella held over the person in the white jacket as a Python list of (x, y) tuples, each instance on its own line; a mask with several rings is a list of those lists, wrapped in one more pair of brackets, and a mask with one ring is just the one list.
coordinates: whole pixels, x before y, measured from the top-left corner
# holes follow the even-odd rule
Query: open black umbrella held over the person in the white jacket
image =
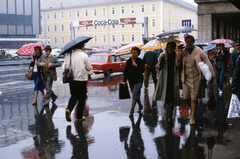
[[(66, 53), (71, 52), (74, 49), (81, 48), (84, 46), (85, 43), (87, 43), (92, 37), (89, 36), (80, 36), (74, 40), (71, 40), (69, 43), (67, 43), (63, 49), (61, 50), (60, 55), (64, 55)], [(59, 55), (59, 56), (60, 56)]]

